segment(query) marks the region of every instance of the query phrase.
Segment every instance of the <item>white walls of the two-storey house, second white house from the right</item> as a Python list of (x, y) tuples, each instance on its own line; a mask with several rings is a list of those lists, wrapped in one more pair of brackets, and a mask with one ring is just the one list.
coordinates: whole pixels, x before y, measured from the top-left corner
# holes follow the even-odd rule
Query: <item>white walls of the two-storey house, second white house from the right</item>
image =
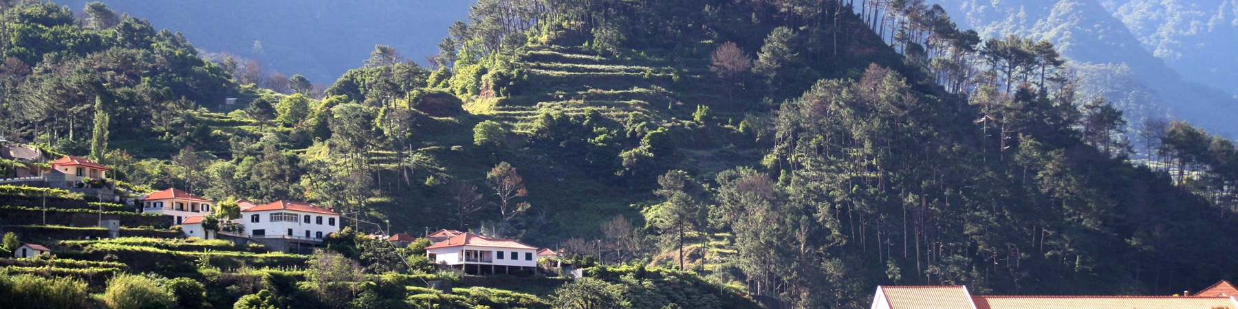
[[(272, 220), (272, 214), (282, 215), (276, 215), (275, 220)], [(296, 216), (295, 220), (292, 220), (293, 215)], [(306, 216), (310, 216), (308, 222), (306, 222)], [(321, 239), (337, 232), (340, 224), (339, 215), (287, 209), (241, 211), (240, 219), (233, 220), (233, 222), (245, 225), (245, 235), (248, 236), (254, 236), (254, 231), (260, 231), (261, 235), (266, 236), (288, 236), (288, 230), (291, 229), (292, 236), (306, 237), (308, 232), (311, 239)]]

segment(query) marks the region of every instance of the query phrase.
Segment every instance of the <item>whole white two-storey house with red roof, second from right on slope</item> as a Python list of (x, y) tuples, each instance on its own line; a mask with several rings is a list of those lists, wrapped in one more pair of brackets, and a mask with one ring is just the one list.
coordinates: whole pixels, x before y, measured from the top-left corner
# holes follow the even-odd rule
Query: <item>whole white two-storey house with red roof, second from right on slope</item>
[(276, 200), (240, 211), (234, 222), (245, 225), (251, 239), (291, 239), (322, 241), (339, 231), (339, 214), (303, 201)]

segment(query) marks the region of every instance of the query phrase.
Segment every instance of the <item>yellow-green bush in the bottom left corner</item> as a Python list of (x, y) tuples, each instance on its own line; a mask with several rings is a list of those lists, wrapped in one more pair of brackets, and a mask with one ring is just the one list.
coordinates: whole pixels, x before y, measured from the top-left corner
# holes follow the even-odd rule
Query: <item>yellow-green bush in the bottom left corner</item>
[(0, 308), (85, 308), (85, 282), (74, 278), (9, 276), (0, 271)]

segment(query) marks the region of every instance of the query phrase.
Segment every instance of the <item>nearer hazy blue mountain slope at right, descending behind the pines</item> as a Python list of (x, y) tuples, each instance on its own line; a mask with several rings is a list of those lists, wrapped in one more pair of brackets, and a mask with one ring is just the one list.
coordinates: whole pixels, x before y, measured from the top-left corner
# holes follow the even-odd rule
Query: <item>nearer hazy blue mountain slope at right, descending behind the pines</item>
[[(1103, 95), (1114, 101), (1133, 127), (1144, 117), (1170, 115), (1210, 131), (1238, 132), (1233, 121), (1238, 99), (1233, 94), (1195, 83), (1197, 79), (1184, 79), (1096, 0), (931, 2), (945, 6), (961, 27), (972, 27), (984, 37), (1016, 35), (1054, 42), (1075, 61), (1084, 82), (1084, 95)], [(1181, 54), (1187, 58), (1187, 53)]]

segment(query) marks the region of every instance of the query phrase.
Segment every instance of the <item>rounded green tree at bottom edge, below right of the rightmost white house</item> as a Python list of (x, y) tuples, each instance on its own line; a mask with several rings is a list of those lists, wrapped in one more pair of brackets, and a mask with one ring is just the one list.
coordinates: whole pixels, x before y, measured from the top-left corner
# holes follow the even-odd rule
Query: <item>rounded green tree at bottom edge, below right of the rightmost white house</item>
[(586, 277), (555, 289), (551, 304), (562, 309), (631, 308), (625, 292), (624, 286)]

